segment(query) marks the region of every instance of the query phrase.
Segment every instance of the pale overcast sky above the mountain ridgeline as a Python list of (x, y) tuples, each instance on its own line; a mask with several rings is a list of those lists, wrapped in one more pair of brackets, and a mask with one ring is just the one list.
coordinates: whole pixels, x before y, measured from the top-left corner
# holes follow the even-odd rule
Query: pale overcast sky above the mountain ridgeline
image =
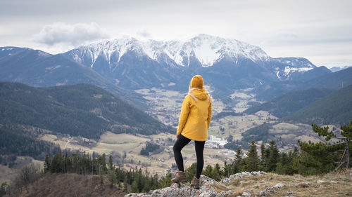
[(189, 39), (210, 34), (306, 57), (317, 66), (352, 65), (352, 1), (1, 0), (0, 46), (63, 53), (101, 39)]

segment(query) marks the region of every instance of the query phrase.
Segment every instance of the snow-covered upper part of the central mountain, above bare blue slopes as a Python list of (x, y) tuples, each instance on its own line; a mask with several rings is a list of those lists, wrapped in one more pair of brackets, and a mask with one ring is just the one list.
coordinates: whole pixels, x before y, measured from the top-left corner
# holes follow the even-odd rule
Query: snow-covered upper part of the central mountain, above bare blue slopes
[(111, 64), (118, 63), (121, 57), (134, 51), (139, 55), (147, 55), (151, 60), (164, 62), (165, 56), (175, 64), (189, 67), (191, 57), (199, 61), (202, 67), (210, 67), (222, 58), (230, 58), (237, 62), (241, 58), (258, 61), (268, 61), (270, 57), (258, 46), (233, 39), (222, 39), (217, 36), (199, 34), (187, 41), (138, 41), (134, 38), (113, 39), (92, 43), (72, 50), (73, 59), (82, 62), (82, 56), (90, 57), (91, 67), (99, 56)]

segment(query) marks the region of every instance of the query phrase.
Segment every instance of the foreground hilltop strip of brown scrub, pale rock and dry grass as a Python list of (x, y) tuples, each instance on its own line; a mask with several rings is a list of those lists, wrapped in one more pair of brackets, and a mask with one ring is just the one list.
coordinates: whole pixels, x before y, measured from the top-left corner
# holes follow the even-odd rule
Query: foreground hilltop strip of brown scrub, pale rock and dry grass
[(242, 172), (216, 182), (202, 176), (201, 189), (191, 189), (189, 183), (125, 195), (117, 185), (107, 180), (99, 183), (96, 175), (46, 174), (29, 192), (23, 189), (17, 196), (350, 196), (351, 170), (320, 176), (277, 175), (265, 172)]

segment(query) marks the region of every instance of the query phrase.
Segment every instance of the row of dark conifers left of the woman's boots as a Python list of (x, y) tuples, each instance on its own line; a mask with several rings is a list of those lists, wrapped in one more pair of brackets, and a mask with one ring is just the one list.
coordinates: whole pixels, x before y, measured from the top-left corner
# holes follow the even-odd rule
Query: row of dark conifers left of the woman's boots
[(158, 177), (151, 175), (148, 170), (142, 168), (126, 170), (113, 164), (113, 156), (109, 156), (106, 162), (106, 154), (101, 156), (90, 156), (86, 153), (62, 154), (46, 156), (44, 172), (51, 173), (77, 173), (80, 175), (99, 175), (101, 184), (107, 179), (111, 186), (118, 184), (125, 192), (147, 192), (151, 189), (170, 186), (170, 176)]

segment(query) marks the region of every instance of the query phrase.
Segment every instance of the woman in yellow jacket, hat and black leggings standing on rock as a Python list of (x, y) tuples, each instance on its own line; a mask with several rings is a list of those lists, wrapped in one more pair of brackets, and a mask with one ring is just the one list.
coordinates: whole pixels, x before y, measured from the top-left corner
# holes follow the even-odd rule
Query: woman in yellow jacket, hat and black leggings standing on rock
[(181, 150), (191, 142), (191, 140), (194, 140), (196, 149), (196, 175), (192, 179), (191, 186), (195, 189), (199, 189), (201, 185), (200, 177), (204, 165), (203, 150), (204, 144), (208, 139), (211, 102), (213, 100), (203, 86), (204, 82), (202, 76), (193, 76), (189, 84), (188, 95), (184, 97), (182, 103), (176, 133), (177, 140), (173, 147), (178, 170), (175, 172), (175, 177), (171, 179), (171, 181), (187, 182)]

